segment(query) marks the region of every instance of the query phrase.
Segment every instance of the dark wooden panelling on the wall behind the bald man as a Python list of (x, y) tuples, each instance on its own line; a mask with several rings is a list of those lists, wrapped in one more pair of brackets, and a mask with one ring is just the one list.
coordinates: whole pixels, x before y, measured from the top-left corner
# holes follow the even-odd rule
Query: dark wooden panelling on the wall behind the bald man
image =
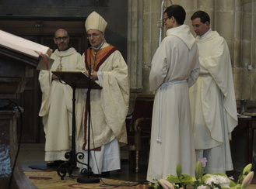
[[(38, 16), (0, 16), (0, 26), (3, 31), (21, 36), (27, 40), (40, 43), (55, 50), (54, 32), (57, 29), (66, 29), (70, 36), (69, 45), (74, 47), (79, 53), (83, 53), (88, 48), (86, 39), (86, 29), (84, 26), (85, 17), (38, 17)], [(16, 64), (12, 70), (25, 69), (26, 67)], [(2, 69), (2, 68), (1, 68)], [(0, 71), (1, 71), (0, 69)], [(24, 108), (23, 119), (23, 143), (44, 143), (44, 126), (38, 116), (41, 104), (41, 91), (38, 82), (39, 70), (34, 67), (30, 70), (30, 75), (23, 85), (23, 93), (15, 94), (19, 96), (16, 102)], [(0, 76), (2, 77), (2, 75)], [(12, 78), (13, 79), (13, 78)], [(2, 88), (2, 85), (0, 86)], [(19, 132), (19, 129), (18, 129)]]

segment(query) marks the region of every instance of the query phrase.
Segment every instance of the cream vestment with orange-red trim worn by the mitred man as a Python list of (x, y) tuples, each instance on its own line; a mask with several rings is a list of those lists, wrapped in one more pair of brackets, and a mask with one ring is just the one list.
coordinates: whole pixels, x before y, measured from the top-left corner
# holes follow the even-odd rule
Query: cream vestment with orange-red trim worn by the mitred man
[[(125, 119), (128, 113), (129, 105), (129, 84), (128, 67), (121, 53), (114, 46), (104, 43), (98, 50), (94, 59), (92, 48), (82, 55), (86, 61), (87, 67), (93, 65), (93, 60), (99, 61), (98, 67), (93, 69), (97, 71), (101, 90), (90, 91), (90, 147), (96, 149), (96, 156), (92, 156), (90, 166), (94, 174), (120, 169), (119, 143), (127, 143), (127, 133)], [(102, 53), (104, 52), (104, 53)], [(93, 54), (93, 57), (87, 58), (87, 55)], [(86, 69), (87, 69), (86, 67)], [(87, 69), (88, 70), (88, 69)], [(86, 153), (88, 149), (88, 109), (86, 110), (86, 94), (84, 91), (82, 98), (79, 99), (83, 115), (77, 122), (77, 151)], [(88, 101), (87, 101), (88, 103)], [(86, 116), (87, 120), (86, 120)], [(86, 131), (85, 131), (86, 128)], [(98, 150), (98, 151), (97, 151)], [(100, 151), (99, 151), (100, 150)], [(109, 153), (115, 151), (116, 153)], [(110, 155), (110, 156), (107, 156)], [(87, 163), (87, 158), (82, 160)], [(114, 164), (113, 164), (114, 163)], [(93, 166), (94, 165), (94, 166)], [(78, 164), (79, 167), (84, 167)]]

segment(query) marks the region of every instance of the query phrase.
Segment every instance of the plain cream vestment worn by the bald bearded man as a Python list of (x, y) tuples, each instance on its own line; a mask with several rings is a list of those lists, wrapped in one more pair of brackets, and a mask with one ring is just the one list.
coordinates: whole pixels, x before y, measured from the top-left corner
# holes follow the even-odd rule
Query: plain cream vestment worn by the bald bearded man
[(82, 57), (74, 48), (55, 50), (51, 70), (40, 70), (39, 82), (42, 104), (39, 115), (43, 117), (45, 132), (45, 161), (66, 160), (72, 137), (72, 88), (60, 81), (52, 81), (51, 71), (62, 64), (63, 70), (85, 70)]

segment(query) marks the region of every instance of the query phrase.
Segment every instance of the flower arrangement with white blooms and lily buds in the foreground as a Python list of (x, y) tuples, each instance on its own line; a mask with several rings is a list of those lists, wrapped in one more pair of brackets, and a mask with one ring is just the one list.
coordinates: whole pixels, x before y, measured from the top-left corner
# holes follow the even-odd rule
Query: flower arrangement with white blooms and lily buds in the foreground
[(195, 177), (182, 174), (181, 164), (178, 163), (177, 176), (169, 174), (165, 179), (156, 179), (156, 183), (150, 183), (149, 186), (154, 189), (245, 189), (253, 180), (254, 171), (251, 171), (251, 163), (244, 167), (235, 182), (233, 177), (227, 177), (226, 174), (204, 174), (206, 162), (206, 158), (198, 160), (195, 165)]

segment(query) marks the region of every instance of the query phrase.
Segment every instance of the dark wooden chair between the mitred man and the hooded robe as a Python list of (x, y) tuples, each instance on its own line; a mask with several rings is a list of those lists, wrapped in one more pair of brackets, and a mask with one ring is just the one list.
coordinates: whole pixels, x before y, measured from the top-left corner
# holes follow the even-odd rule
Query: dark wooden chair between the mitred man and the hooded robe
[(124, 148), (129, 150), (130, 162), (131, 150), (135, 151), (136, 173), (139, 172), (140, 152), (150, 147), (153, 102), (153, 94), (135, 94), (133, 112), (128, 116), (128, 145)]

